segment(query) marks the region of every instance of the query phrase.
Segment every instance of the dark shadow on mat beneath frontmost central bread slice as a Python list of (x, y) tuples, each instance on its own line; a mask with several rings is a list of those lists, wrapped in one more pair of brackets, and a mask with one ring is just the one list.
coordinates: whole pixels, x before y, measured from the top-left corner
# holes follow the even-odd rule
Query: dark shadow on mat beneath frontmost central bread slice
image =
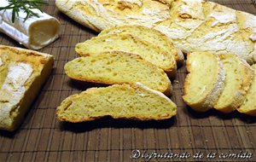
[(69, 123), (59, 122), (61, 130), (69, 130), (76, 133), (96, 130), (101, 128), (140, 128), (140, 129), (168, 129), (176, 123), (176, 118), (164, 120), (129, 120), (129, 119), (112, 119), (104, 117), (89, 122)]

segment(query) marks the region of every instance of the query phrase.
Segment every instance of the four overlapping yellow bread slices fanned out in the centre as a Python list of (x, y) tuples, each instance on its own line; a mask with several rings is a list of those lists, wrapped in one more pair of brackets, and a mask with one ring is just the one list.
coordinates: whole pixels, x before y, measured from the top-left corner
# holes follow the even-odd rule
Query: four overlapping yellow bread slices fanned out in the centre
[(57, 109), (61, 121), (169, 119), (176, 114), (177, 106), (166, 97), (172, 91), (168, 77), (176, 75), (184, 58), (166, 35), (145, 26), (114, 26), (75, 50), (81, 57), (65, 65), (68, 77), (113, 85), (62, 101)]

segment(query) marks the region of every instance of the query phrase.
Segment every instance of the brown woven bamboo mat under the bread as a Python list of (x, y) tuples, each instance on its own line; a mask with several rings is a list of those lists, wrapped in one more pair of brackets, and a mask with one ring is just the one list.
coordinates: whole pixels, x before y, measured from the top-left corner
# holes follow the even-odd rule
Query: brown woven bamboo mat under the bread
[[(233, 9), (256, 14), (253, 0), (216, 0)], [(177, 103), (175, 118), (159, 122), (99, 119), (84, 124), (63, 124), (55, 119), (55, 108), (68, 95), (93, 85), (73, 84), (64, 74), (67, 61), (77, 57), (76, 43), (96, 36), (61, 14), (54, 1), (44, 11), (61, 20), (61, 38), (41, 51), (55, 56), (55, 68), (33, 102), (20, 129), (0, 131), (0, 161), (145, 161), (131, 159), (134, 150), (143, 153), (179, 153), (187, 158), (159, 158), (151, 161), (256, 161), (256, 120), (239, 113), (228, 115), (191, 111), (182, 101), (185, 67), (178, 70), (172, 101)], [(20, 46), (0, 34), (0, 43)], [(132, 152), (133, 151), (133, 152)], [(194, 157), (203, 153), (202, 159)], [(216, 154), (207, 158), (207, 154)], [(251, 159), (221, 159), (230, 153), (253, 153)], [(220, 156), (220, 157), (219, 157)], [(182, 156), (181, 156), (182, 157)], [(213, 157), (213, 155), (212, 155)]]

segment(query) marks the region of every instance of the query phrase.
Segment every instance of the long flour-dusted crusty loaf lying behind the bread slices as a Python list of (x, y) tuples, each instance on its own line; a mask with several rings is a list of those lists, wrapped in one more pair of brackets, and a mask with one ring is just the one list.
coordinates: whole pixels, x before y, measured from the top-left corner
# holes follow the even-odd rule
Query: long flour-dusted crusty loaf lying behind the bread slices
[(112, 26), (148, 26), (172, 38), (184, 53), (209, 51), (256, 62), (256, 16), (203, 0), (56, 0), (61, 12), (100, 32)]

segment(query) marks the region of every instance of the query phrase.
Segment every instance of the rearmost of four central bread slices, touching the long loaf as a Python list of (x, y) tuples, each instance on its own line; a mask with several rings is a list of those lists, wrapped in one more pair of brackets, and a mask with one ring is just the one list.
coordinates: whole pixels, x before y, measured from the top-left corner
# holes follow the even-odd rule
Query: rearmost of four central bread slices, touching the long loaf
[(148, 43), (158, 45), (161, 49), (166, 50), (167, 53), (174, 56), (177, 65), (183, 65), (183, 53), (181, 50), (176, 49), (172, 40), (162, 32), (146, 26), (113, 26), (100, 32), (99, 36), (114, 33), (131, 34), (137, 36), (137, 38), (148, 41)]

